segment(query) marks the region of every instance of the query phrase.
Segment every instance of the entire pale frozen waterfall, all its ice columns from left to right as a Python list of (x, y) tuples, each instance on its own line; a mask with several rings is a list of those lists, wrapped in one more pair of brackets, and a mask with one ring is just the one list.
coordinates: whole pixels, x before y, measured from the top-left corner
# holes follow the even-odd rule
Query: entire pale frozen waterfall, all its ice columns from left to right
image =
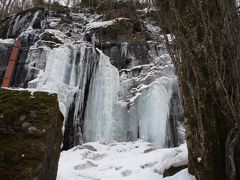
[(168, 145), (170, 102), (177, 84), (171, 68), (149, 64), (119, 74), (108, 56), (85, 43), (38, 52), (40, 61), (36, 53), (28, 55), (27, 78), (35, 77), (28, 86), (58, 94), (67, 147), (138, 138), (158, 148)]

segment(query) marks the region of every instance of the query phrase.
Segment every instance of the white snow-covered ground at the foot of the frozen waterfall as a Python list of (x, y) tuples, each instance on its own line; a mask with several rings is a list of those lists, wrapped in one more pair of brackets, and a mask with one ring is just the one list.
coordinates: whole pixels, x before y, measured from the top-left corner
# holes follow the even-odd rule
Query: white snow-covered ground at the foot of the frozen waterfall
[(187, 169), (163, 178), (170, 166), (186, 165), (187, 147), (154, 150), (143, 141), (83, 144), (60, 156), (57, 180), (194, 180)]

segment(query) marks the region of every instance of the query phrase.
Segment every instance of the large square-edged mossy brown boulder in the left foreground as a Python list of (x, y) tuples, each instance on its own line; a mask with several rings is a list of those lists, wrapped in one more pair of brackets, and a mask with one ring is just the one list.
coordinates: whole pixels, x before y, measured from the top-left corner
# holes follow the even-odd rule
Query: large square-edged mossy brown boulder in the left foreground
[(0, 91), (0, 177), (56, 179), (63, 116), (56, 95)]

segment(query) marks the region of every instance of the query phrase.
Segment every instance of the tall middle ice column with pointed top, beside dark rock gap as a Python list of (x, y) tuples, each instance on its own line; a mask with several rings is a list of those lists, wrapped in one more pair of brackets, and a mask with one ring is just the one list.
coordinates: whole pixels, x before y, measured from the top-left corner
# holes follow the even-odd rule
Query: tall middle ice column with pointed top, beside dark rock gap
[(114, 140), (119, 128), (116, 127), (118, 119), (114, 111), (119, 90), (119, 74), (117, 68), (111, 65), (109, 57), (99, 52), (98, 68), (90, 85), (86, 107), (84, 139), (86, 142), (100, 140), (109, 143)]

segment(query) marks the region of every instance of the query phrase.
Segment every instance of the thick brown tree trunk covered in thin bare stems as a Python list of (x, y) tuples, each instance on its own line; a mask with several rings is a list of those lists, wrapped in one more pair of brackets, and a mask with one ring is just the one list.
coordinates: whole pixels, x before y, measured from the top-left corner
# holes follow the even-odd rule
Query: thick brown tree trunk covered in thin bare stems
[(189, 172), (240, 179), (240, 36), (234, 0), (169, 0), (161, 23), (181, 82)]

